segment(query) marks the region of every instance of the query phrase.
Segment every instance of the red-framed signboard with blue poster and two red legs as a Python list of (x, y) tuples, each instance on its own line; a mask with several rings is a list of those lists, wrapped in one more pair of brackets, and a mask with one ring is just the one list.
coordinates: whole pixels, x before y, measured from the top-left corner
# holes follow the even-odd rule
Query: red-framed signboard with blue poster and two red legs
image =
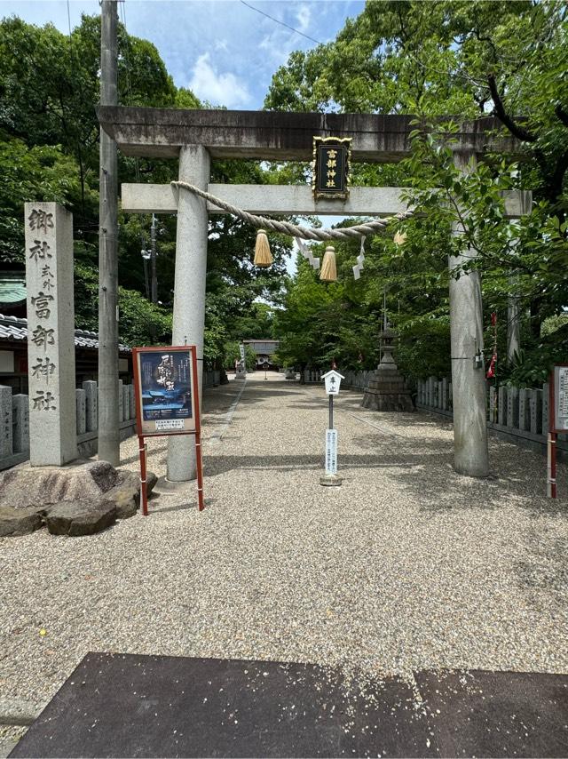
[(203, 509), (203, 468), (197, 348), (193, 345), (133, 348), (136, 431), (140, 455), (142, 513), (146, 496), (146, 437), (194, 435), (199, 510)]

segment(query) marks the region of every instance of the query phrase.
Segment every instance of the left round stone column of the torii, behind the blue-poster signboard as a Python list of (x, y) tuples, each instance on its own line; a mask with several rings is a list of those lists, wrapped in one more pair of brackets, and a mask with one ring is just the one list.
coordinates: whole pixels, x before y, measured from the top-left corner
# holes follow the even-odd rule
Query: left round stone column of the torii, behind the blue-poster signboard
[[(209, 153), (201, 145), (186, 145), (179, 153), (179, 180), (206, 190), (209, 184)], [(178, 190), (176, 276), (174, 283), (173, 345), (197, 346), (203, 358), (205, 328), (205, 278), (207, 273), (207, 205), (201, 197)], [(202, 360), (198, 362), (199, 395), (202, 389)], [(168, 445), (168, 474), (171, 482), (196, 476), (195, 442), (192, 435), (178, 435)]]

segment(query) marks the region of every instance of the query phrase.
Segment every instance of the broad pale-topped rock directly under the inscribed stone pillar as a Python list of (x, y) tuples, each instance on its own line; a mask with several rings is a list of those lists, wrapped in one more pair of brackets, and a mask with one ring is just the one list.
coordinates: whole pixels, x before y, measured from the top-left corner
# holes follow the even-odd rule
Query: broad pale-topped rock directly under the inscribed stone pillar
[(13, 508), (65, 500), (100, 500), (118, 479), (108, 461), (77, 460), (65, 467), (13, 467), (0, 475), (0, 504)]

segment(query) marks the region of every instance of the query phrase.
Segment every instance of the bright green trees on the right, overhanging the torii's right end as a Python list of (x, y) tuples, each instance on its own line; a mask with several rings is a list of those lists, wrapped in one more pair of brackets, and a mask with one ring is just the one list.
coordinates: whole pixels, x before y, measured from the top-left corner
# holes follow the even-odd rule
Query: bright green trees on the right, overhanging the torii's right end
[[(404, 224), (405, 244), (375, 238), (357, 283), (349, 282), (343, 262), (354, 264), (359, 251), (336, 246), (346, 281), (327, 286), (317, 308), (315, 280), (302, 265), (277, 322), (288, 361), (325, 364), (333, 355), (343, 366), (375, 363), (386, 295), (405, 372), (449, 373), (447, 258), (466, 246), (477, 257), (451, 276), (481, 272), (485, 324), (496, 311), (501, 356), (509, 297), (521, 307), (524, 349), (509, 366), (500, 362), (501, 380), (544, 380), (549, 365), (565, 359), (564, 330), (541, 334), (541, 326), (568, 306), (566, 15), (565, 4), (556, 2), (369, 2), (333, 42), (293, 52), (279, 68), (265, 108), (417, 117), (411, 158), (359, 164), (353, 180), (408, 188), (418, 213)], [(488, 155), (464, 175), (454, 163), (456, 124), (489, 114), (519, 141), (522, 160)], [(501, 192), (525, 188), (533, 190), (533, 209), (512, 225), (504, 219)], [(455, 223), (463, 236), (451, 235)], [(302, 340), (294, 337), (300, 323)]]

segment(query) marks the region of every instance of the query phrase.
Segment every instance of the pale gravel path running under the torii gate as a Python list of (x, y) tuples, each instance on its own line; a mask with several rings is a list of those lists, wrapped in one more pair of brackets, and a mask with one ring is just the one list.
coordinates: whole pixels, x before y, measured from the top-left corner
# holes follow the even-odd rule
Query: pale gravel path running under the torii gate
[[(271, 380), (248, 381), (228, 426), (241, 384), (206, 395), (201, 514), (192, 489), (98, 536), (2, 541), (5, 698), (42, 704), (87, 651), (306, 661), (369, 677), (568, 672), (566, 467), (556, 504), (545, 459), (495, 438), (499, 477), (461, 477), (448, 423), (364, 411), (345, 392), (343, 487), (323, 488), (323, 389)], [(149, 450), (162, 475), (166, 444)], [(138, 467), (135, 438), (122, 456)]]

